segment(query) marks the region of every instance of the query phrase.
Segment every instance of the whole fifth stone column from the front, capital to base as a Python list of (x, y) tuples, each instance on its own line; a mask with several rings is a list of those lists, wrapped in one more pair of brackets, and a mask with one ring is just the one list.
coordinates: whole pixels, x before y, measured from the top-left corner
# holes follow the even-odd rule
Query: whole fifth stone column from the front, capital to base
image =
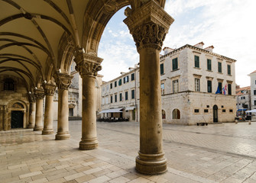
[(34, 95), (37, 98), (36, 104), (36, 120), (34, 131), (41, 131), (43, 130), (43, 99), (44, 99), (44, 89), (37, 88), (34, 92)]

